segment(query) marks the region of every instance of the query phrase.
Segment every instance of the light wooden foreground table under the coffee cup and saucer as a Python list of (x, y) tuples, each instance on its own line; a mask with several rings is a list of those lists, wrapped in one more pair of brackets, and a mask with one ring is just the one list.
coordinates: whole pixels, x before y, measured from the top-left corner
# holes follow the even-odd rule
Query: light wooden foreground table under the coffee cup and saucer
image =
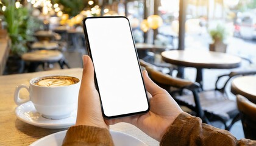
[[(74, 75), (81, 78), (82, 69), (62, 69), (0, 76), (0, 145), (29, 145), (41, 137), (66, 130), (66, 128), (51, 130), (35, 127), (18, 120), (15, 116), (14, 111), (17, 105), (13, 101), (13, 94), (16, 86), (20, 85), (21, 83), (29, 85), (29, 80), (31, 78), (50, 74)], [(26, 91), (21, 91), (20, 96), (27, 97), (28, 93)], [(148, 145), (159, 145), (157, 141), (128, 123), (118, 123), (110, 126), (110, 129), (130, 134)]]

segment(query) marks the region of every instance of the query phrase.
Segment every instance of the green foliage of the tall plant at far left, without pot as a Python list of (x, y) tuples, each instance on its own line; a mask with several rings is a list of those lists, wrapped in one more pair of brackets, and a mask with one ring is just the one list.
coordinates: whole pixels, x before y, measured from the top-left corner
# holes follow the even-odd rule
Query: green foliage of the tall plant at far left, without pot
[(10, 54), (21, 55), (27, 52), (27, 41), (34, 39), (32, 36), (35, 29), (39, 28), (38, 23), (29, 15), (26, 7), (16, 8), (15, 1), (4, 0), (5, 11), (4, 21), (7, 23), (7, 32), (12, 41)]

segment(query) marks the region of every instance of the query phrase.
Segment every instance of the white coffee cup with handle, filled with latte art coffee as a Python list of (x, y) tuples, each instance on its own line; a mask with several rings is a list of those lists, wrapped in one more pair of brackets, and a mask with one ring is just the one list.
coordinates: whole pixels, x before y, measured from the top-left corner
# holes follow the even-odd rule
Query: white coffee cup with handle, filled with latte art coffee
[[(29, 91), (29, 98), (20, 98), (19, 93), (22, 88)], [(37, 112), (48, 119), (63, 119), (69, 117), (77, 108), (79, 88), (80, 80), (77, 77), (66, 75), (36, 77), (29, 81), (29, 86), (16, 87), (14, 100), (17, 105), (31, 101)]]

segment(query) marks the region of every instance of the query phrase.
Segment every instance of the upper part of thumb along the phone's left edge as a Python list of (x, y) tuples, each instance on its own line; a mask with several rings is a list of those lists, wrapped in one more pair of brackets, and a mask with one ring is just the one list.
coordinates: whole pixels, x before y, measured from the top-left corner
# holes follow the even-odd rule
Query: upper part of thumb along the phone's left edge
[(88, 86), (89, 88), (95, 88), (94, 86), (94, 68), (93, 62), (88, 55), (83, 56), (84, 70), (82, 75), (81, 86)]

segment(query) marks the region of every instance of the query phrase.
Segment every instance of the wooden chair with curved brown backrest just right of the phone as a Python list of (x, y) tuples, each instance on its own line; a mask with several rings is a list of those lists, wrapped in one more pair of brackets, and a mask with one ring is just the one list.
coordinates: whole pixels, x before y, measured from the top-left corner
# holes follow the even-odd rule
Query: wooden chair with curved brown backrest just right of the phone
[[(203, 122), (210, 124), (219, 120), (224, 123), (226, 130), (230, 130), (233, 123), (240, 119), (236, 102), (225, 97), (223, 92), (219, 90), (200, 92), (199, 83), (171, 77), (150, 66), (145, 68), (157, 85), (166, 89), (179, 105), (187, 106), (194, 111), (195, 116), (200, 117)], [(182, 91), (190, 91), (192, 94), (180, 94)], [(229, 120), (232, 122), (228, 125)]]

